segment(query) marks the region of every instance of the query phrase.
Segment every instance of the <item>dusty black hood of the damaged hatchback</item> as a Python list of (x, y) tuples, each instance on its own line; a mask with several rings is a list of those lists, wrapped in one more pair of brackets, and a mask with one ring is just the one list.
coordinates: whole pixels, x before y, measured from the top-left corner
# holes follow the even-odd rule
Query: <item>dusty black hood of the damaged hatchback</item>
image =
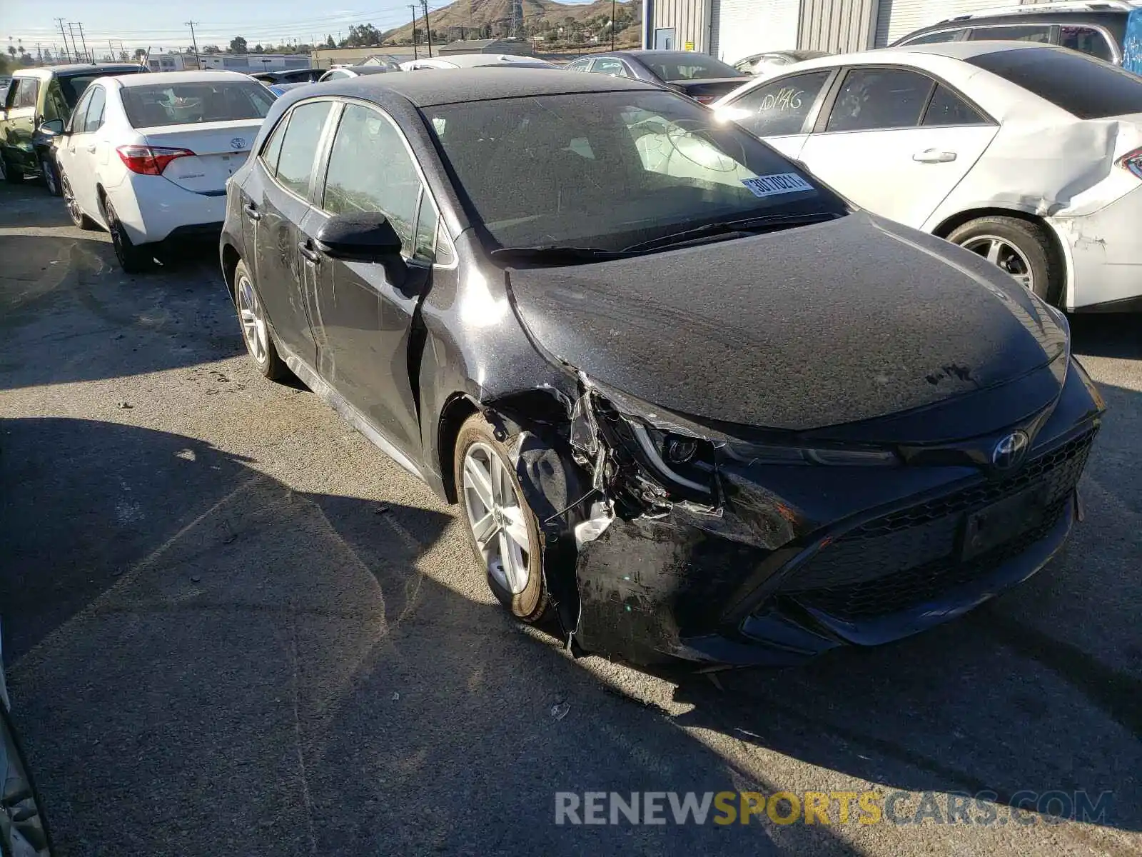
[(553, 357), (659, 407), (809, 431), (1014, 381), (1067, 330), (982, 258), (867, 213), (629, 259), (508, 272)]

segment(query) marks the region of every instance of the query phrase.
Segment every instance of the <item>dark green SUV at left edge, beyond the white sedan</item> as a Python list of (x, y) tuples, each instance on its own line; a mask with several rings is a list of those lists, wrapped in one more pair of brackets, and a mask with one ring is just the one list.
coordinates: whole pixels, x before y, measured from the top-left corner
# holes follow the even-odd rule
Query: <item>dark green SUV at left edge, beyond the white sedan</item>
[(40, 176), (54, 195), (59, 177), (51, 152), (53, 135), (40, 131), (48, 121), (67, 121), (87, 85), (110, 74), (145, 72), (142, 65), (103, 63), (19, 69), (0, 89), (0, 175), (8, 182)]

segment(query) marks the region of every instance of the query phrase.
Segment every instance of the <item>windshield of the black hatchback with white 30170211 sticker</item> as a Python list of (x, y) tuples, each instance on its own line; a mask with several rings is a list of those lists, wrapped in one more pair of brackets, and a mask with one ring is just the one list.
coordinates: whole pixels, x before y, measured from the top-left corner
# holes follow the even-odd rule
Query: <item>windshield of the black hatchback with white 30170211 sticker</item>
[(621, 250), (710, 223), (844, 202), (695, 102), (658, 90), (426, 107), (489, 249)]

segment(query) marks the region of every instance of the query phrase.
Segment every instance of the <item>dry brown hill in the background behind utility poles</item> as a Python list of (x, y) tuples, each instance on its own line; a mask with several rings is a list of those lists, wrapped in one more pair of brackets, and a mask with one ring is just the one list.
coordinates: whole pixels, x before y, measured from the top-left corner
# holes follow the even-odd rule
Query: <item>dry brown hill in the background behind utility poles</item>
[[(512, 34), (513, 0), (456, 0), (441, 9), (428, 13), (433, 41), (457, 39), (490, 39)], [(520, 0), (521, 27), (516, 33), (523, 39), (546, 41), (588, 41), (593, 37), (610, 38), (606, 24), (611, 19), (611, 0), (592, 3), (560, 3), (555, 0)], [(637, 30), (642, 19), (640, 0), (617, 2), (614, 6), (616, 32)], [(424, 18), (417, 19), (418, 41), (424, 41)], [(410, 43), (412, 24), (395, 27), (381, 34), (384, 42)], [(617, 37), (617, 40), (618, 37)], [(625, 39), (622, 41), (627, 41)]]

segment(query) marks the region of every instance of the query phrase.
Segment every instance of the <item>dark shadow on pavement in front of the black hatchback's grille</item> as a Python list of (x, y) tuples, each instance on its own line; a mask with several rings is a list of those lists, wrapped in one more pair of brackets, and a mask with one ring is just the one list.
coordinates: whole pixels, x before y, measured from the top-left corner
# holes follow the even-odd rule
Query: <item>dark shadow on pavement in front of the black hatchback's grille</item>
[(895, 644), (684, 681), (678, 722), (888, 788), (1112, 792), (1102, 824), (1142, 830), (1142, 394), (1100, 390), (1086, 520), (1035, 577)]

